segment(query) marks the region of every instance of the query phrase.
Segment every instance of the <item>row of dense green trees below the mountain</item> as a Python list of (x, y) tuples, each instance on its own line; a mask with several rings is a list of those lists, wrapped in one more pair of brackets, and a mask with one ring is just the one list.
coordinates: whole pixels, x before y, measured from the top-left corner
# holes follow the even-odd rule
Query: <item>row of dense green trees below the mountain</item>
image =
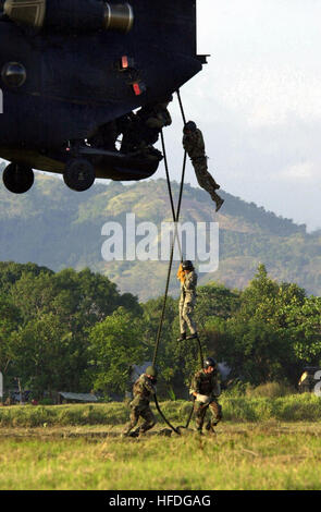
[[(177, 283), (178, 287), (178, 283)], [(53, 272), (0, 264), (0, 370), (34, 398), (44, 391), (124, 395), (133, 365), (152, 361), (162, 297), (139, 304), (89, 269)], [(254, 386), (296, 385), (305, 365), (321, 363), (321, 298), (272, 280), (260, 265), (243, 291), (199, 287), (202, 352), (225, 362), (229, 378)], [(159, 395), (186, 397), (199, 367), (195, 340), (178, 343), (177, 301), (169, 297), (157, 353)]]

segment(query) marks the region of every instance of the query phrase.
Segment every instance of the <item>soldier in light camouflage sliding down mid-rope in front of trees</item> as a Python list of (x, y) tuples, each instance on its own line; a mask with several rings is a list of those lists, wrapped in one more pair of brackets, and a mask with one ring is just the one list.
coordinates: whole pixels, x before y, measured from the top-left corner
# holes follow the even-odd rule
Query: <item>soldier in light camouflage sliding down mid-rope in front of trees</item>
[[(193, 263), (189, 260), (183, 261), (182, 270), (184, 272), (184, 278), (181, 284), (181, 297), (178, 304), (181, 338), (178, 338), (177, 341), (193, 340), (194, 338), (197, 338), (197, 328), (193, 318), (196, 303), (197, 273), (194, 269)], [(186, 337), (187, 327), (190, 334)]]

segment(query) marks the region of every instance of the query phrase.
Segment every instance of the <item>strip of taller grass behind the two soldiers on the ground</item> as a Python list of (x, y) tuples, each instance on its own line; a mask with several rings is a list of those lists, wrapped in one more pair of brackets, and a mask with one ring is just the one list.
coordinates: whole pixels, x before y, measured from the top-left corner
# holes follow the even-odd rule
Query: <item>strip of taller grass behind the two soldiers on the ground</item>
[[(229, 422), (320, 422), (321, 399), (313, 393), (281, 398), (227, 398), (220, 400)], [(161, 409), (173, 423), (185, 424), (192, 403), (162, 402)], [(153, 407), (155, 409), (155, 407)], [(159, 423), (162, 419), (158, 414)], [(87, 405), (38, 405), (0, 407), (0, 427), (120, 425), (128, 419), (124, 403)]]

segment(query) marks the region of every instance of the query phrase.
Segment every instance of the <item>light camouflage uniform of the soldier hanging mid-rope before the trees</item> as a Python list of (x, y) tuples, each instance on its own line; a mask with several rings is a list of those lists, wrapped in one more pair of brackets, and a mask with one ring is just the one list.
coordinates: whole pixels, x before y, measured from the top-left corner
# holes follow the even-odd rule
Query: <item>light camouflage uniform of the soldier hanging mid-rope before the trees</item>
[(186, 333), (188, 327), (190, 334), (197, 331), (196, 324), (193, 318), (194, 306), (196, 303), (196, 285), (197, 273), (195, 270), (185, 273), (184, 282), (181, 284), (181, 298), (180, 298), (180, 327), (181, 334)]

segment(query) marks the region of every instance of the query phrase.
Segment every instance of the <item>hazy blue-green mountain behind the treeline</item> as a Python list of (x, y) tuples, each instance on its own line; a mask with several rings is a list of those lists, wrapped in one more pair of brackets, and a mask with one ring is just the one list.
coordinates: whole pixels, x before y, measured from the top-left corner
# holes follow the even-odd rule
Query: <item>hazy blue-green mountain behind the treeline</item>
[[(178, 188), (174, 182), (174, 200)], [(208, 229), (210, 222), (219, 223), (219, 269), (200, 273), (199, 283), (215, 280), (242, 289), (258, 264), (263, 263), (279, 281), (296, 282), (307, 293), (320, 295), (321, 231), (307, 233), (306, 225), (297, 225), (223, 191), (221, 195), (225, 204), (215, 214), (206, 192), (190, 185), (184, 190), (181, 220), (192, 222), (187, 224), (192, 227), (189, 242), (195, 222), (207, 223)], [(0, 260), (33, 261), (52, 270), (65, 267), (79, 270), (88, 266), (116, 282), (121, 292), (132, 292), (143, 301), (159, 296), (164, 292), (168, 260), (102, 258), (103, 243), (110, 240), (108, 230), (115, 242), (111, 248), (116, 252), (123, 249), (122, 239), (134, 236), (134, 224), (126, 229), (126, 215), (132, 215), (133, 222), (133, 214), (136, 229), (147, 229), (150, 248), (159, 241), (161, 222), (172, 220), (165, 180), (96, 184), (85, 193), (76, 193), (60, 179), (37, 173), (34, 187), (22, 196), (0, 187)], [(124, 252), (133, 252), (143, 239), (134, 237)], [(169, 252), (165, 256), (168, 259)], [(178, 261), (174, 261), (170, 282), (173, 295), (180, 288), (175, 277), (177, 266)]]

